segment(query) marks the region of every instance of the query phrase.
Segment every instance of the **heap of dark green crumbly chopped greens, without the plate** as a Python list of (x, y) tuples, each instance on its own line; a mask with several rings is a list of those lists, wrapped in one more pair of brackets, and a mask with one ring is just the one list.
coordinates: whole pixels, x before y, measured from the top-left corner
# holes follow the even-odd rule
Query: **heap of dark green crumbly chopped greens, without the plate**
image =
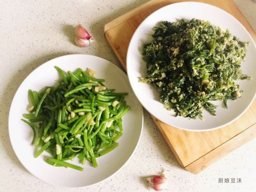
[(248, 42), (203, 20), (160, 22), (153, 40), (143, 47), (148, 75), (141, 78), (160, 92), (160, 102), (176, 116), (203, 119), (202, 110), (215, 115), (210, 101), (237, 99), (242, 90), (234, 80), (250, 79), (239, 69)]

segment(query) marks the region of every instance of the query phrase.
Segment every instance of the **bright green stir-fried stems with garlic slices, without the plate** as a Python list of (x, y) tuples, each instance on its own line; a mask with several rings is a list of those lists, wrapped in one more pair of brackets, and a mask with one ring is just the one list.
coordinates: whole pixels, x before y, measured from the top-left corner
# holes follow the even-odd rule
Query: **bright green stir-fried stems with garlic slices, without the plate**
[(45, 161), (52, 166), (83, 168), (66, 162), (77, 157), (81, 164), (89, 161), (97, 167), (101, 157), (118, 147), (122, 136), (122, 116), (128, 112), (125, 95), (107, 89), (104, 79), (96, 79), (91, 69), (67, 75), (55, 66), (61, 80), (41, 92), (28, 91), (29, 113), (23, 114), (33, 130), (32, 144), (38, 148), (35, 158), (44, 151), (52, 157)]

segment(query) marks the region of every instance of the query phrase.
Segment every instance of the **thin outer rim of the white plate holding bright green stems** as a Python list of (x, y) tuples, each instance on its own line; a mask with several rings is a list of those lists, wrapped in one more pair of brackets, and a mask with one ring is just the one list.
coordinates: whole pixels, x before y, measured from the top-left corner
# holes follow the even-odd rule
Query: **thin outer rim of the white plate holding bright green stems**
[[(73, 189), (73, 188), (79, 189), (79, 188), (94, 186), (94, 185), (99, 184), (99, 183), (101, 183), (101, 182), (103, 182), (103, 181), (109, 179), (110, 177), (116, 175), (116, 174), (128, 163), (128, 161), (129, 161), (129, 160), (131, 159), (131, 157), (134, 155), (134, 153), (135, 153), (135, 151), (136, 151), (136, 149), (137, 149), (137, 147), (138, 147), (138, 145), (139, 145), (139, 142), (140, 142), (140, 140), (141, 140), (141, 137), (142, 137), (143, 123), (144, 123), (143, 107), (142, 107), (140, 101), (137, 99), (137, 97), (136, 97), (136, 95), (135, 95), (135, 93), (134, 93), (134, 96), (135, 96), (136, 99), (138, 100), (138, 103), (140, 103), (140, 105), (137, 106), (137, 107), (139, 107), (139, 108), (140, 108), (140, 111), (141, 111), (141, 126), (139, 126), (139, 127), (141, 127), (141, 128), (140, 128), (139, 139), (138, 139), (138, 141), (137, 141), (137, 143), (136, 143), (136, 145), (135, 145), (135, 147), (134, 147), (134, 149), (133, 149), (133, 152), (131, 153), (130, 157), (128, 157), (128, 159), (125, 161), (125, 163), (124, 163), (122, 166), (120, 166), (119, 169), (117, 169), (112, 175), (109, 175), (108, 177), (106, 177), (106, 178), (104, 178), (103, 180), (100, 180), (100, 181), (98, 181), (98, 182), (96, 182), (96, 183), (92, 183), (92, 184), (90, 184), (90, 185), (78, 186), (78, 187), (77, 187), (77, 186), (61, 186), (61, 185), (57, 185), (57, 184), (55, 185), (55, 184), (52, 184), (52, 183), (49, 183), (49, 182), (43, 180), (42, 178), (39, 178), (39, 177), (36, 176), (34, 173), (32, 173), (32, 172), (30, 171), (30, 169), (29, 169), (27, 166), (24, 165), (24, 163), (20, 160), (20, 157), (17, 155), (17, 153), (16, 153), (16, 151), (15, 151), (15, 148), (14, 148), (14, 145), (13, 145), (13, 140), (12, 140), (12, 138), (11, 138), (11, 133), (10, 133), (10, 121), (11, 121), (10, 114), (11, 114), (11, 112), (12, 112), (12, 110), (13, 110), (13, 102), (14, 102), (14, 100), (15, 100), (15, 96), (17, 95), (18, 90), (20, 89), (21, 85), (26, 81), (26, 79), (27, 79), (32, 73), (34, 73), (35, 70), (38, 70), (39, 68), (41, 68), (41, 66), (43, 66), (43, 65), (45, 65), (45, 64), (48, 64), (49, 62), (52, 62), (53, 60), (58, 60), (59, 58), (73, 57), (73, 56), (77, 56), (77, 55), (84, 55), (84, 56), (86, 56), (86, 57), (99, 58), (99, 59), (101, 59), (101, 60), (104, 60), (105, 62), (108, 62), (112, 67), (115, 67), (117, 70), (119, 70), (120, 73), (123, 73), (124, 75), (127, 76), (127, 74), (125, 74), (125, 72), (124, 72), (122, 69), (120, 69), (118, 66), (116, 66), (115, 64), (113, 64), (111, 61), (106, 60), (105, 58), (101, 58), (101, 57), (98, 57), (98, 56), (95, 56), (95, 55), (89, 55), (89, 54), (68, 54), (68, 55), (61, 55), (61, 56), (59, 56), (59, 57), (56, 57), (56, 58), (50, 59), (49, 61), (44, 62), (43, 64), (41, 64), (40, 66), (38, 66), (38, 67), (36, 67), (34, 70), (32, 70), (32, 72), (30, 72), (29, 75), (26, 76), (26, 78), (20, 83), (19, 87), (18, 87), (17, 90), (15, 91), (15, 94), (14, 94), (14, 96), (13, 96), (13, 98), (12, 98), (12, 102), (11, 102), (11, 105), (10, 105), (10, 108), (9, 108), (9, 115), (8, 115), (8, 134), (9, 134), (9, 140), (10, 140), (12, 149), (13, 149), (13, 151), (14, 151), (14, 153), (15, 153), (17, 159), (18, 159), (19, 162), (22, 164), (22, 166), (23, 166), (30, 174), (32, 174), (34, 177), (36, 177), (37, 179), (39, 179), (39, 180), (41, 180), (41, 181), (43, 181), (43, 182), (45, 182), (45, 183), (48, 183), (49, 185), (52, 185), (52, 186), (59, 186), (59, 187), (65, 187), (65, 188), (70, 188), (70, 189)], [(127, 78), (128, 78), (128, 76), (127, 76)], [(56, 81), (56, 80), (55, 80), (55, 81)], [(129, 80), (128, 80), (128, 81), (129, 81)], [(131, 86), (131, 85), (130, 85), (130, 86)], [(133, 92), (132, 89), (131, 89), (131, 91)]]

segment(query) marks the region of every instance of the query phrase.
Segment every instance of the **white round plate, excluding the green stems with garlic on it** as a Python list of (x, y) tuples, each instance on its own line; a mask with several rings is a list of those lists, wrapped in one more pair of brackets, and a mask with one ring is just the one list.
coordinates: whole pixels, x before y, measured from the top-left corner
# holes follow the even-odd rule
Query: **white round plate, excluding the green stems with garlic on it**
[[(81, 165), (75, 158), (70, 163), (84, 167), (84, 171), (53, 167), (44, 162), (50, 155), (44, 152), (34, 158), (35, 146), (31, 145), (32, 130), (22, 122), (23, 113), (27, 113), (28, 90), (39, 91), (45, 86), (55, 84), (60, 77), (54, 66), (64, 71), (75, 71), (77, 68), (86, 70), (87, 67), (96, 71), (96, 78), (105, 79), (108, 88), (116, 92), (127, 92), (126, 103), (131, 107), (123, 117), (123, 135), (117, 141), (119, 146), (110, 153), (97, 158), (98, 168), (85, 163)], [(18, 88), (9, 113), (9, 136), (12, 147), (23, 166), (39, 179), (56, 186), (84, 187), (113, 175), (131, 157), (140, 139), (143, 125), (143, 110), (134, 95), (126, 74), (111, 62), (93, 55), (65, 55), (42, 64), (22, 82)]]

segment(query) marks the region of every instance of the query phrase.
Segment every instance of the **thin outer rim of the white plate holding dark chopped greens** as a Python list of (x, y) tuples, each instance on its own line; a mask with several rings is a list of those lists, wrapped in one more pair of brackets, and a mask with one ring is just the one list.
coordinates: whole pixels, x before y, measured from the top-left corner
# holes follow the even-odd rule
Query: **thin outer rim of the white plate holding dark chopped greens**
[[(128, 57), (128, 53), (131, 52), (129, 51), (131, 48), (131, 42), (133, 41), (134, 39), (134, 34), (139, 30), (139, 28), (143, 25), (143, 23), (145, 22), (145, 20), (148, 19), (148, 17), (150, 17), (151, 15), (155, 14), (156, 12), (160, 12), (162, 9), (166, 9), (166, 7), (170, 7), (170, 6), (175, 6), (177, 4), (194, 4), (194, 5), (204, 5), (204, 6), (209, 6), (209, 7), (212, 7), (214, 9), (218, 9), (218, 11), (220, 12), (223, 12), (224, 14), (227, 14), (229, 15), (230, 17), (232, 17), (234, 20), (236, 20), (240, 26), (244, 29), (244, 31), (247, 33), (248, 37), (250, 38), (250, 40), (253, 42), (253, 47), (254, 49), (256, 50), (256, 42), (254, 42), (253, 38), (251, 37), (250, 33), (247, 31), (247, 29), (240, 23), (239, 20), (236, 19), (236, 17), (234, 17), (233, 15), (231, 15), (229, 12), (226, 12), (225, 10), (217, 7), (217, 6), (213, 6), (211, 4), (208, 4), (208, 3), (202, 3), (202, 2), (195, 2), (195, 1), (185, 1), (185, 2), (177, 2), (177, 3), (171, 3), (169, 5), (166, 5), (166, 6), (163, 6), (161, 7), (160, 9), (157, 9), (156, 11), (152, 12), (150, 15), (148, 15), (141, 23), (140, 25), (137, 27), (137, 29), (134, 31), (132, 37), (131, 37), (131, 40), (129, 42), (129, 45), (128, 45), (128, 49), (127, 49), (127, 54), (126, 54), (126, 69), (127, 69), (127, 76), (128, 76), (128, 79), (129, 79), (129, 82), (131, 84), (131, 88), (133, 89), (134, 91), (134, 94), (137, 96), (137, 91), (135, 91), (135, 88), (133, 87), (131, 81), (130, 81), (130, 78), (131, 76), (129, 75), (129, 72), (130, 70), (129, 69), (129, 65), (128, 65), (128, 60), (129, 60), (129, 57)], [(174, 126), (174, 125), (171, 125), (169, 124), (168, 122), (165, 122), (164, 119), (161, 119), (161, 118), (158, 118), (157, 116), (155, 116), (154, 114), (150, 113), (151, 110), (148, 110), (148, 107), (146, 105), (144, 105), (142, 102), (141, 105), (143, 106), (143, 108), (145, 108), (148, 113), (150, 113), (152, 116), (155, 116), (157, 119), (159, 119), (161, 122), (165, 123), (166, 125), (169, 125), (169, 126), (172, 126), (174, 128), (178, 128), (178, 129), (181, 129), (181, 130), (184, 130), (184, 131), (192, 131), (192, 132), (204, 132), (204, 131), (213, 131), (213, 130), (216, 130), (216, 129), (219, 129), (219, 128), (223, 128), (227, 125), (230, 125), (231, 123), (233, 123), (234, 121), (236, 121), (237, 119), (239, 119), (239, 117), (241, 117), (247, 110), (248, 108), (250, 108), (250, 106), (252, 105), (253, 101), (255, 100), (256, 98), (256, 92), (254, 93), (254, 96), (253, 98), (251, 99), (249, 105), (247, 105), (247, 107), (244, 109), (244, 111), (242, 111), (238, 116), (236, 116), (234, 119), (230, 120), (229, 122), (223, 124), (223, 125), (219, 125), (219, 126), (215, 126), (213, 128), (207, 128), (207, 129), (188, 129), (188, 128), (183, 128), (183, 127), (180, 127), (180, 126)], [(141, 99), (139, 99), (139, 97), (137, 96), (137, 99), (140, 101)], [(159, 102), (159, 101), (158, 101)], [(192, 119), (193, 120), (193, 119)]]

